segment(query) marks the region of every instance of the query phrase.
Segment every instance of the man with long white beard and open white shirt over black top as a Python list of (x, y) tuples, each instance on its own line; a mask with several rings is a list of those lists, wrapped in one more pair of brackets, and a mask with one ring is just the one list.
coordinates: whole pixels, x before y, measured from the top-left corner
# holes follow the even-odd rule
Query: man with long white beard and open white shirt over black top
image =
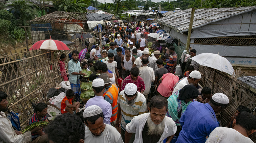
[(149, 113), (134, 117), (126, 125), (128, 133), (135, 133), (131, 141), (133, 143), (162, 143), (167, 138), (166, 143), (170, 143), (177, 127), (171, 118), (165, 116), (167, 109), (168, 102), (164, 97), (152, 97), (148, 107)]

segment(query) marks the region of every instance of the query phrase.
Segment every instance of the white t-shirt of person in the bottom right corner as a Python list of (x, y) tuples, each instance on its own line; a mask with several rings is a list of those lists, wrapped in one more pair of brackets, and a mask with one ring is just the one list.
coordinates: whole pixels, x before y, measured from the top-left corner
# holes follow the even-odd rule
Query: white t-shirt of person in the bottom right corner
[(253, 143), (253, 141), (235, 129), (217, 127), (211, 132), (205, 143)]

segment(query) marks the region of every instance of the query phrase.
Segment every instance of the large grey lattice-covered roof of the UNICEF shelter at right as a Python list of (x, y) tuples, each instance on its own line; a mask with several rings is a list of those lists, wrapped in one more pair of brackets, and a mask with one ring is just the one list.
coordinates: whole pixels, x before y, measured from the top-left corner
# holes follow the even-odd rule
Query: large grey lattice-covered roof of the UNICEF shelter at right
[[(255, 10), (253, 7), (238, 7), (238, 8), (200, 8), (195, 9), (194, 21), (192, 29), (201, 27), (203, 25), (220, 21), (222, 19), (229, 18), (248, 11)], [(186, 9), (174, 14), (162, 17), (158, 19), (163, 24), (176, 28), (180, 33), (188, 31), (189, 21), (191, 16), (191, 10)]]

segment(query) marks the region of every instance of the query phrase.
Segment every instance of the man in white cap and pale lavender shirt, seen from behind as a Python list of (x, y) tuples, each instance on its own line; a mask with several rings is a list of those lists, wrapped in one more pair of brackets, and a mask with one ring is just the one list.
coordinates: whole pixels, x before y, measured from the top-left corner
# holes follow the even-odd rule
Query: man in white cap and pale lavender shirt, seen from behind
[(105, 92), (104, 80), (96, 78), (93, 80), (93, 91), (95, 97), (89, 99), (85, 104), (85, 108), (91, 105), (97, 105), (102, 109), (104, 115), (104, 123), (110, 125), (110, 118), (112, 116), (112, 106), (106, 100), (104, 100), (103, 94)]

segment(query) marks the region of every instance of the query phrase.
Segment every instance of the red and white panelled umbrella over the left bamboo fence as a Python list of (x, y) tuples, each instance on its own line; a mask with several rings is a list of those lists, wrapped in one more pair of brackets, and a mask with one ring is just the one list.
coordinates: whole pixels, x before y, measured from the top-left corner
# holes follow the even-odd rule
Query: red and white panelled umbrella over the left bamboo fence
[(31, 50), (37, 50), (37, 49), (43, 49), (43, 50), (70, 50), (69, 47), (59, 40), (40, 40), (35, 42), (32, 47), (29, 49)]

